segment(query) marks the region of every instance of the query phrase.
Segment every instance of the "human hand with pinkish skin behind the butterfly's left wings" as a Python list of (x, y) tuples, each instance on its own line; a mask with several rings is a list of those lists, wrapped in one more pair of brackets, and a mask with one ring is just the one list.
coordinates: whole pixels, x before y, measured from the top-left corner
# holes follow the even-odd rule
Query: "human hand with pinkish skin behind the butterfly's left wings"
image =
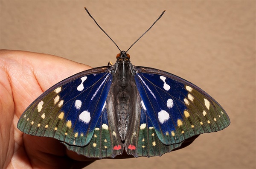
[(81, 168), (96, 158), (67, 150), (54, 138), (24, 134), (20, 115), (57, 82), (90, 66), (58, 56), (26, 51), (0, 51), (0, 168)]

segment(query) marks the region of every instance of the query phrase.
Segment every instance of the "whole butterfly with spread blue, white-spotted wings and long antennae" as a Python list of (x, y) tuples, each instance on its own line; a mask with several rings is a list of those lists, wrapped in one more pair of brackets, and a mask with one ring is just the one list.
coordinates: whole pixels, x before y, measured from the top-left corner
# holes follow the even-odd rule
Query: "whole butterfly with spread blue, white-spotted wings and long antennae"
[(18, 129), (58, 139), (89, 158), (114, 158), (123, 151), (161, 156), (230, 124), (204, 90), (171, 73), (132, 65), (127, 51), (120, 50), (114, 65), (85, 70), (50, 87), (20, 116)]

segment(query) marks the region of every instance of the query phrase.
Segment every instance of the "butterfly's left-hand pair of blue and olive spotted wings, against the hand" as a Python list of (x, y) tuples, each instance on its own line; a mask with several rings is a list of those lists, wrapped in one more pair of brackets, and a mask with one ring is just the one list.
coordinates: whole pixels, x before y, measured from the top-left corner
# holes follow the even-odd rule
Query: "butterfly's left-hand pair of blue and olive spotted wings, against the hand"
[(111, 69), (93, 68), (54, 85), (24, 111), (18, 129), (29, 135), (56, 138), (68, 149), (87, 157), (122, 154), (122, 149), (109, 149), (121, 144), (112, 138), (105, 108), (113, 79)]

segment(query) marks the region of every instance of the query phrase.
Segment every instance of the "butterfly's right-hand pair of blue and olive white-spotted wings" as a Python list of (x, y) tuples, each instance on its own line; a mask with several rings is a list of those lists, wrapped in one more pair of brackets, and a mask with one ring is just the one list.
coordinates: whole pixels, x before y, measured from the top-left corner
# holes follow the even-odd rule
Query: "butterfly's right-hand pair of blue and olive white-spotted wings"
[(160, 156), (196, 135), (230, 124), (225, 110), (206, 92), (171, 73), (134, 67), (140, 95), (140, 127), (126, 144), (128, 154)]

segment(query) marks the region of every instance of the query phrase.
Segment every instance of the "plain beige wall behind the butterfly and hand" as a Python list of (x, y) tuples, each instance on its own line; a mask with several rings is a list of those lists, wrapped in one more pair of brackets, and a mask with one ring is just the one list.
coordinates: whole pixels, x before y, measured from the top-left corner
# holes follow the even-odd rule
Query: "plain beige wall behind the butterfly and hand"
[[(103, 159), (104, 168), (256, 168), (256, 2), (0, 1), (0, 48), (53, 54), (93, 67), (119, 52), (84, 6), (134, 65), (165, 70), (198, 85), (230, 116), (227, 129), (203, 134), (162, 157)], [(58, 64), (58, 63), (56, 63)]]

